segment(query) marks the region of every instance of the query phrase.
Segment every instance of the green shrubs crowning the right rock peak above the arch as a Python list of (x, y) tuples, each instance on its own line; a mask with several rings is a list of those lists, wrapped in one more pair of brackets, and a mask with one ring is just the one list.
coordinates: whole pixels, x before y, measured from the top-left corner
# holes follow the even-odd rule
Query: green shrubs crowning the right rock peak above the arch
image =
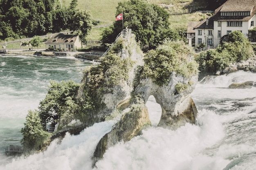
[(173, 71), (184, 77), (192, 77), (198, 73), (198, 64), (191, 60), (192, 55), (192, 47), (183, 41), (165, 41), (145, 55), (141, 78), (151, 77), (153, 82), (162, 86), (168, 84)]

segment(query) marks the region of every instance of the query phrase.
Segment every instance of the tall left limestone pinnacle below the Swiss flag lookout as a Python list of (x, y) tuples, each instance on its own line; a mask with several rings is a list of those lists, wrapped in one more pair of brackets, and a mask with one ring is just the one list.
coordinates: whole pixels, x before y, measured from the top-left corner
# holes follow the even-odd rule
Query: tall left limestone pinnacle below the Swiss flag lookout
[[(93, 120), (88, 119), (90, 123), (103, 121), (113, 110), (129, 103), (135, 70), (137, 66), (143, 65), (142, 59), (143, 53), (137, 46), (135, 35), (131, 34), (129, 38), (121, 36), (108, 55), (103, 57), (101, 64), (85, 72), (77, 99), (86, 101), (88, 94), (85, 95), (85, 91), (89, 91), (93, 102), (99, 103), (91, 110), (95, 113)], [(92, 73), (94, 70), (100, 71), (95, 74)], [(96, 82), (96, 79), (100, 80)]]

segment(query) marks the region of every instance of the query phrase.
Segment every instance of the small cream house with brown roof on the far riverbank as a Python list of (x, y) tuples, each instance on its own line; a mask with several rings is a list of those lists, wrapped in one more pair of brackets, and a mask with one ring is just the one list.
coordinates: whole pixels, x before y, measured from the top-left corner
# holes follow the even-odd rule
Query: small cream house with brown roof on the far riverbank
[(78, 35), (57, 33), (45, 42), (45, 49), (75, 51), (82, 46)]

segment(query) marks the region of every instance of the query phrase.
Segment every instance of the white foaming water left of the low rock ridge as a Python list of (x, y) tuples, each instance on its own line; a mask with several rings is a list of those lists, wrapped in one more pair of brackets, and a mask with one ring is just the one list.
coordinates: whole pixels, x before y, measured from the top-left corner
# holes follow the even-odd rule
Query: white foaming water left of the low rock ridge
[(114, 121), (105, 121), (86, 128), (80, 135), (67, 133), (61, 144), (56, 140), (45, 152), (13, 160), (0, 166), (0, 170), (90, 170), (97, 143), (114, 124)]

